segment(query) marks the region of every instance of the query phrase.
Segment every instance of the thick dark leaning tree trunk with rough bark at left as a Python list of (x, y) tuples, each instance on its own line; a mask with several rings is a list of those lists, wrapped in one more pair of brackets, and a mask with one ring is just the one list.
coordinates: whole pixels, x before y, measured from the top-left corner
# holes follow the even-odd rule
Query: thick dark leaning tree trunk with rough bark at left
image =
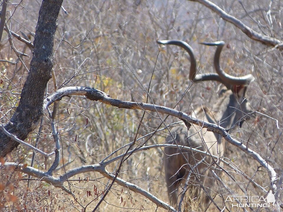
[[(24, 140), (38, 125), (42, 115), (42, 104), (47, 82), (53, 66), (53, 41), (58, 14), (63, 0), (42, 1), (34, 37), (34, 52), (29, 74), (24, 84), (19, 106), (4, 128)], [(0, 130), (0, 157), (11, 152), (19, 143)]]

